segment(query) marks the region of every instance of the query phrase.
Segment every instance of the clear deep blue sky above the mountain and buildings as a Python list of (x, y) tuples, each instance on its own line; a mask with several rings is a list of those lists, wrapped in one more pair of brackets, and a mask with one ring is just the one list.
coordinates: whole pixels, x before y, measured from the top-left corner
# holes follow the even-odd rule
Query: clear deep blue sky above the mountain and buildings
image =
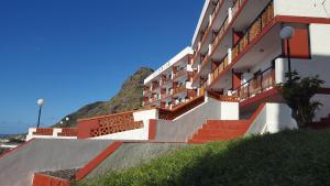
[(26, 132), (110, 99), (141, 66), (190, 44), (204, 0), (0, 2), (0, 133)]

